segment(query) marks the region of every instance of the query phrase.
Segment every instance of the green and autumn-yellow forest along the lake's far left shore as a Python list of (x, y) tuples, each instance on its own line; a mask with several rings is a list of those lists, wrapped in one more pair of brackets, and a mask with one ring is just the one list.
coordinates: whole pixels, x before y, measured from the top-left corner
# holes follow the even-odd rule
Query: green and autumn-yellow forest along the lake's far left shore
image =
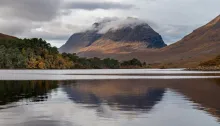
[(82, 58), (60, 54), (41, 38), (0, 39), (0, 69), (119, 69), (143, 68), (138, 59), (118, 61), (111, 58)]

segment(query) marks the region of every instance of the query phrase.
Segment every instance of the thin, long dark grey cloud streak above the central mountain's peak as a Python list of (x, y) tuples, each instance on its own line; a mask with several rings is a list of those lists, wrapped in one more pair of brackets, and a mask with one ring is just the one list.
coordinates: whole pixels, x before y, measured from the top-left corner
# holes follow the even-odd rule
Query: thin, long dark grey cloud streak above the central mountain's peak
[(66, 3), (64, 8), (68, 9), (83, 9), (83, 10), (96, 10), (96, 9), (130, 9), (134, 6), (131, 4), (122, 4), (117, 2), (86, 2), (75, 1)]

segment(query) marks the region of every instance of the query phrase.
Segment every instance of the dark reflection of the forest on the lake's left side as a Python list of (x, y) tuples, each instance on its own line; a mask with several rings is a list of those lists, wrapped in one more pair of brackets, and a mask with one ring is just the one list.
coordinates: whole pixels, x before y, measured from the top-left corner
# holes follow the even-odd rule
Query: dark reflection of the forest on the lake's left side
[(48, 92), (57, 88), (55, 81), (0, 81), (0, 105), (29, 99), (31, 102), (45, 101)]

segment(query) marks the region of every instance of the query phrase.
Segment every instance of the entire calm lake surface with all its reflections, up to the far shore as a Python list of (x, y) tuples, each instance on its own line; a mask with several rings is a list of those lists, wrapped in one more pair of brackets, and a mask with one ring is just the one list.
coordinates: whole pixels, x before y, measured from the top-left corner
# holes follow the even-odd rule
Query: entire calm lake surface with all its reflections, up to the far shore
[(0, 126), (220, 126), (218, 72), (106, 71), (1, 70)]

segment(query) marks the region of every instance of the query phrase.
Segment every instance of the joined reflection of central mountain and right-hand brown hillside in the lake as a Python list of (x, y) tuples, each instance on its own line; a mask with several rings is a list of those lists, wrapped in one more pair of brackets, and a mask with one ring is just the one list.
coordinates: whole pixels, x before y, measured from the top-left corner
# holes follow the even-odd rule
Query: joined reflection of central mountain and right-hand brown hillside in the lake
[[(63, 82), (64, 83), (64, 82)], [(177, 80), (94, 80), (65, 82), (70, 100), (86, 106), (107, 104), (122, 111), (149, 111), (162, 101), (167, 89), (181, 93), (185, 100), (220, 118), (220, 79)], [(68, 83), (68, 84), (67, 84)], [(215, 100), (216, 99), (216, 100)]]

